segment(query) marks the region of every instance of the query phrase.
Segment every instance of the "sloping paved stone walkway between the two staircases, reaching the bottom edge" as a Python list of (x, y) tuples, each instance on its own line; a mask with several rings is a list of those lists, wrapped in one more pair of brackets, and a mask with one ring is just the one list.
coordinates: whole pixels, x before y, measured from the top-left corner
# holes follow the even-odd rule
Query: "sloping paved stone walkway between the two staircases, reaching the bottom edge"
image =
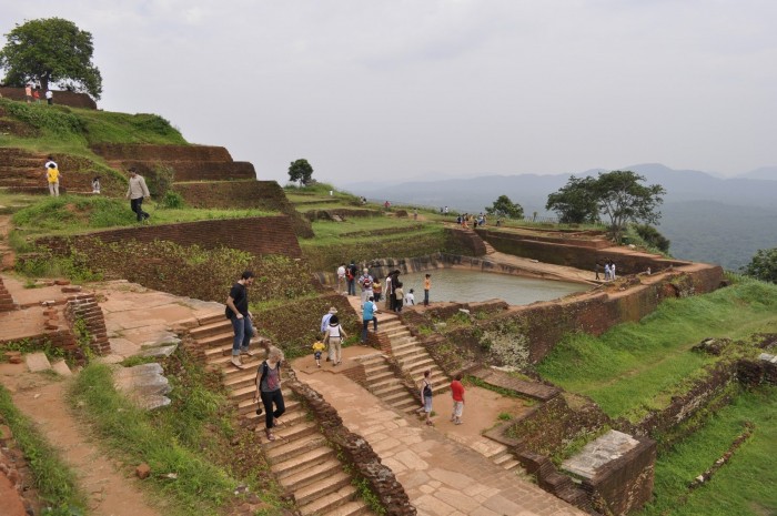
[[(437, 427), (426, 427), (403, 417), (341, 374), (301, 371), (294, 365), (300, 380), (324, 395), (349, 429), (367, 439), (383, 464), (394, 472), (418, 515), (585, 514), (521, 479), (516, 473), (506, 472), (470, 446), (446, 437), (442, 422)], [(437, 419), (446, 421), (446, 406), (438, 412), (442, 416)], [(466, 409), (464, 417), (466, 421)], [(460, 439), (467, 441), (462, 436)]]

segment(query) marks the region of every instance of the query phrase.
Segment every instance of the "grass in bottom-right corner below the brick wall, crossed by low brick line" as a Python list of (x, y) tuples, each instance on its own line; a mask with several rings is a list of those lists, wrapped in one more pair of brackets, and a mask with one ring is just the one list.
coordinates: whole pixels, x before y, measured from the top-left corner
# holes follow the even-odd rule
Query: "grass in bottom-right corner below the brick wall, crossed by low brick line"
[[(755, 432), (712, 480), (688, 484), (709, 468), (745, 431)], [(764, 516), (777, 514), (777, 387), (745, 392), (717, 411), (698, 432), (659, 454), (653, 503), (645, 516)]]

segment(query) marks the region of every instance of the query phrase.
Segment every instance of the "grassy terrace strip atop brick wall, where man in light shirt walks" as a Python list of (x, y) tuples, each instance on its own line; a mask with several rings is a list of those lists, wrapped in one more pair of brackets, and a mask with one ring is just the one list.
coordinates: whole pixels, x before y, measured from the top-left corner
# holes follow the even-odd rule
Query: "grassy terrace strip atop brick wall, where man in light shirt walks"
[[(263, 210), (164, 209), (157, 208), (153, 202), (143, 203), (143, 210), (151, 214), (151, 224), (278, 214)], [(74, 234), (138, 224), (129, 201), (100, 195), (39, 198), (38, 202), (17, 210), (12, 221), (17, 227), (23, 229), (26, 235)]]

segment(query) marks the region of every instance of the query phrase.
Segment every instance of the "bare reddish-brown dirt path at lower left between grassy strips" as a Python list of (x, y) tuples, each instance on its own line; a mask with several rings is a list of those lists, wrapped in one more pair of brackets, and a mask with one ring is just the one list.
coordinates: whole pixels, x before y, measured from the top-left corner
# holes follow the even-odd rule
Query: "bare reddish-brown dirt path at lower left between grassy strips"
[(152, 508), (133, 478), (130, 468), (117, 469), (90, 439), (89, 431), (68, 409), (64, 398), (68, 382), (24, 372), (23, 365), (0, 364), (0, 383), (10, 392), (13, 404), (31, 418), (75, 472), (78, 483), (89, 497), (94, 516), (161, 516)]

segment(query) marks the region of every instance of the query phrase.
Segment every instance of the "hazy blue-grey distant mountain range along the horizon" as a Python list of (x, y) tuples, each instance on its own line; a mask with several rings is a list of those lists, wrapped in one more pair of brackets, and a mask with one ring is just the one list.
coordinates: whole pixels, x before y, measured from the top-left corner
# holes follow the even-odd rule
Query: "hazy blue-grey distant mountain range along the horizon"
[[(604, 169), (574, 175), (596, 176)], [(777, 246), (777, 166), (765, 166), (736, 178), (696, 170), (673, 170), (659, 163), (623, 166), (663, 185), (667, 193), (658, 230), (672, 241), (674, 256), (718, 263), (738, 270), (759, 249)], [(417, 204), (478, 213), (506, 194), (527, 215), (545, 210), (547, 195), (566, 184), (569, 175), (483, 175), (395, 184), (351, 183), (346, 190), (383, 202)]]

